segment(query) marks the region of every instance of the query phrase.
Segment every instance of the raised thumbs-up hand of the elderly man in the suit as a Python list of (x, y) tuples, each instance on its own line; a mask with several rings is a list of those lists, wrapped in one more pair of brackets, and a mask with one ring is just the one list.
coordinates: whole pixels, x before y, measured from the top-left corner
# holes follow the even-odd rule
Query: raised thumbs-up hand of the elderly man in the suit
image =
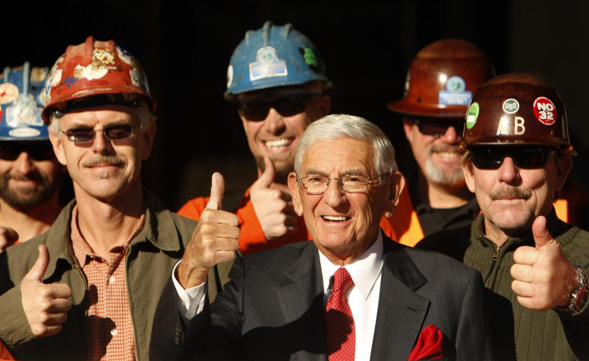
[(178, 281), (184, 289), (207, 280), (209, 269), (217, 263), (233, 260), (239, 247), (239, 218), (221, 211), (225, 181), (213, 173), (211, 197), (178, 266)]

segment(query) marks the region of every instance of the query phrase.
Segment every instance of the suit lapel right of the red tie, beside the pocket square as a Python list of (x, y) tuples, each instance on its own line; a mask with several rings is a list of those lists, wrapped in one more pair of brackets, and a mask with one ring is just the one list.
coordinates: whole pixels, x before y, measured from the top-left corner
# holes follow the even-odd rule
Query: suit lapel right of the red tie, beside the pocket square
[(428, 313), (415, 291), (427, 282), (406, 247), (383, 237), (384, 260), (371, 360), (407, 359)]

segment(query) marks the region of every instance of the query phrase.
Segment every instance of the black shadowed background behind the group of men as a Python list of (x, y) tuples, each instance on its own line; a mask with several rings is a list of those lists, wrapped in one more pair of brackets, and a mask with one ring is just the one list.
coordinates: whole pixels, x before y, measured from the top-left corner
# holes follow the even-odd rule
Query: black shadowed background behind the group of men
[[(375, 122), (403, 152), (401, 122), (386, 110), (402, 97), (413, 55), (429, 42), (477, 44), (497, 74), (535, 74), (567, 105), (574, 186), (585, 192), (589, 104), (589, 4), (583, 1), (55, 1), (3, 4), (0, 66), (51, 66), (88, 35), (135, 55), (157, 101), (157, 136), (143, 184), (171, 209), (210, 188), (227, 192), (256, 177), (236, 109), (223, 100), (231, 52), (247, 29), (290, 22), (322, 52), (334, 87), (332, 113)], [(584, 198), (579, 197), (584, 202)], [(587, 218), (583, 218), (585, 221)], [(583, 227), (583, 225), (581, 225)]]

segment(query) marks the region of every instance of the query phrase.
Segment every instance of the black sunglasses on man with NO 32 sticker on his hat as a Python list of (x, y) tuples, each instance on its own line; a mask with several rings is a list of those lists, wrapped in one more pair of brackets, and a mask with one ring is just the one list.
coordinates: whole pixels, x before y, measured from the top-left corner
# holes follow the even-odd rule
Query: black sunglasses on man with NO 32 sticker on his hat
[(478, 169), (498, 169), (505, 157), (510, 157), (518, 168), (534, 169), (546, 165), (554, 148), (545, 146), (496, 146), (469, 149), (472, 164)]

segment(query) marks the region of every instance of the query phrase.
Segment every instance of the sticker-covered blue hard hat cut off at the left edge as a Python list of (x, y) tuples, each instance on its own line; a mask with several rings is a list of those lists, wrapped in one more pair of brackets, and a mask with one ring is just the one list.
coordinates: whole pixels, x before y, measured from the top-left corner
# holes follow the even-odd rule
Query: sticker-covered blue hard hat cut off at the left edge
[(48, 140), (41, 119), (45, 106), (43, 89), (49, 68), (5, 67), (0, 74), (0, 140)]

